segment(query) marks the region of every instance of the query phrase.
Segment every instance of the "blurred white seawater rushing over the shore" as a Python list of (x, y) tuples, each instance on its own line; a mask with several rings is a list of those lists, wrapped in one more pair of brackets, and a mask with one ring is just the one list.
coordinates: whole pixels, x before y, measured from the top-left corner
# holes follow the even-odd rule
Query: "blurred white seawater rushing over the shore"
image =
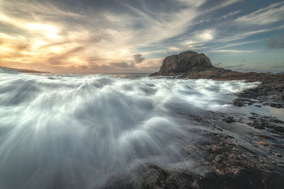
[(185, 115), (226, 111), (256, 85), (0, 69), (0, 188), (94, 188), (133, 164), (182, 164)]

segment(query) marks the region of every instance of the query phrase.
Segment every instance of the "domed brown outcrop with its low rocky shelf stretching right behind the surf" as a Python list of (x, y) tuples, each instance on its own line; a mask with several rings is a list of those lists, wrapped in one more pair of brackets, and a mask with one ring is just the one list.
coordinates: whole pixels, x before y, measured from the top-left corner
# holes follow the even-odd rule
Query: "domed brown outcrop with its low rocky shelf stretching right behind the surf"
[[(165, 57), (160, 71), (150, 76), (174, 76), (178, 79), (213, 79), (218, 81), (246, 80), (248, 82), (261, 81), (261, 85), (239, 94), (234, 105), (253, 105), (256, 101), (273, 108), (284, 108), (284, 74), (269, 74), (231, 71), (212, 66), (210, 59), (203, 53), (193, 51), (182, 52), (179, 55)], [(261, 107), (261, 105), (256, 105)]]

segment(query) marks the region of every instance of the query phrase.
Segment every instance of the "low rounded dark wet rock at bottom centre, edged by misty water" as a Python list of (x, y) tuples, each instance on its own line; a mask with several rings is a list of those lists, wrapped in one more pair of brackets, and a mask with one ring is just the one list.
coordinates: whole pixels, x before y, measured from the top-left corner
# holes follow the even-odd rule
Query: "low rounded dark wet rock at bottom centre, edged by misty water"
[(109, 177), (102, 186), (111, 188), (199, 188), (194, 176), (185, 171), (166, 171), (154, 164), (140, 164), (126, 173)]

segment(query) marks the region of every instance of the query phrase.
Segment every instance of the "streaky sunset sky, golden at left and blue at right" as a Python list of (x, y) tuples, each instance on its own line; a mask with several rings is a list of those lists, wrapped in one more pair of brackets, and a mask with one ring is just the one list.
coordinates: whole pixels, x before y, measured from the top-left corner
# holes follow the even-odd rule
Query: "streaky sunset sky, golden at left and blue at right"
[(284, 1), (0, 0), (0, 66), (151, 73), (186, 50), (226, 69), (284, 71)]

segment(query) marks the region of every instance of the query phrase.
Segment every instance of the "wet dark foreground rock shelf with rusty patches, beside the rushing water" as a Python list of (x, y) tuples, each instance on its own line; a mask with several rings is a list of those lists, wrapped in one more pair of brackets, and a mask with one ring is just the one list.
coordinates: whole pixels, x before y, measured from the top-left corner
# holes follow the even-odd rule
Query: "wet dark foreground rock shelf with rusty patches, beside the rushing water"
[(206, 129), (190, 129), (195, 138), (184, 147), (194, 162), (190, 170), (139, 164), (110, 176), (102, 188), (283, 188), (282, 120), (256, 113), (187, 116)]

